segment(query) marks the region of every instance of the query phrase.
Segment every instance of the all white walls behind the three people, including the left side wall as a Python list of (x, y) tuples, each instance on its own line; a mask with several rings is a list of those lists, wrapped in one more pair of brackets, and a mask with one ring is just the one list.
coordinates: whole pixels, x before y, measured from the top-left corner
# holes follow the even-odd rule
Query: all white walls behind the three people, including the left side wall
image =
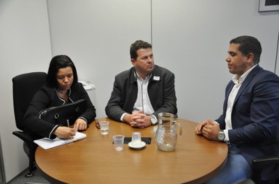
[(152, 41), (156, 64), (176, 74), (179, 117), (214, 119), (231, 78), (225, 62), (229, 40), (257, 37), (263, 47), (260, 65), (274, 71), (279, 11), (259, 13), (257, 8), (256, 0), (0, 0), (0, 98), (5, 104), (0, 135), (6, 180), (27, 167), (22, 142), (12, 135), (13, 76), (47, 71), (52, 56), (67, 54), (80, 79), (96, 85), (97, 117), (104, 117), (114, 76), (132, 66), (130, 44)]

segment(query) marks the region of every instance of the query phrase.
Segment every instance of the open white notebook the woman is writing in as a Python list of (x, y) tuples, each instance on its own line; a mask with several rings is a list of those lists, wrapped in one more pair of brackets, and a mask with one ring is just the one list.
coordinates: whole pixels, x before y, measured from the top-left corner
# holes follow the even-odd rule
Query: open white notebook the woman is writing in
[(43, 149), (52, 149), (54, 147), (59, 147), (63, 144), (68, 144), (71, 142), (75, 142), (77, 140), (82, 140), (86, 137), (87, 137), (86, 134), (77, 132), (75, 133), (73, 140), (63, 140), (59, 137), (56, 137), (54, 140), (50, 140), (47, 137), (45, 137), (40, 140), (34, 140), (34, 142), (38, 144), (40, 147), (42, 147)]

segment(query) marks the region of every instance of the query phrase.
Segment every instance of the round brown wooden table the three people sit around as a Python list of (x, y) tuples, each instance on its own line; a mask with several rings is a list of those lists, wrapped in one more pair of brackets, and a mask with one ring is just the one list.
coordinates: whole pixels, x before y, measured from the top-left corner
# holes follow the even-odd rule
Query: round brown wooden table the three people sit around
[[(176, 119), (183, 127), (176, 149), (157, 149), (153, 126), (131, 128), (112, 119), (110, 133), (101, 135), (95, 122), (84, 131), (84, 140), (44, 150), (36, 150), (36, 164), (43, 176), (52, 183), (204, 183), (223, 168), (227, 159), (227, 144), (206, 140), (195, 135), (195, 122)], [(133, 150), (124, 144), (123, 151), (114, 151), (112, 136), (133, 132), (151, 137), (151, 144)]]

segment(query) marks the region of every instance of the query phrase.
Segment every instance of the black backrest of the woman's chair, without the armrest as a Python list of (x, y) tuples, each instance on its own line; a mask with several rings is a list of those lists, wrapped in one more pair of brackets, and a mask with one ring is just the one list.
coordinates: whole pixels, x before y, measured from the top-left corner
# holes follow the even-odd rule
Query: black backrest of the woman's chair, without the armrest
[(31, 72), (13, 78), (13, 110), (17, 128), (23, 131), (23, 118), (34, 94), (45, 84), (45, 72)]

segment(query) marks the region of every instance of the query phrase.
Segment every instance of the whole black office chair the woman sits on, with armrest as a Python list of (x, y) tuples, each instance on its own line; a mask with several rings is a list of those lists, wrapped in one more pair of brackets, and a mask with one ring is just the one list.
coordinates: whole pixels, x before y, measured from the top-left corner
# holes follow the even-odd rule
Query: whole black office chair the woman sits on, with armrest
[[(31, 135), (23, 131), (24, 114), (33, 95), (45, 84), (47, 74), (45, 72), (31, 72), (21, 74), (13, 78), (13, 108), (15, 112), (15, 123), (21, 131), (13, 131), (13, 135), (24, 141), (24, 151), (29, 156), (29, 172), (25, 177), (33, 176), (35, 165), (35, 151), (37, 144), (33, 142)], [(27, 145), (27, 148), (26, 148)]]

